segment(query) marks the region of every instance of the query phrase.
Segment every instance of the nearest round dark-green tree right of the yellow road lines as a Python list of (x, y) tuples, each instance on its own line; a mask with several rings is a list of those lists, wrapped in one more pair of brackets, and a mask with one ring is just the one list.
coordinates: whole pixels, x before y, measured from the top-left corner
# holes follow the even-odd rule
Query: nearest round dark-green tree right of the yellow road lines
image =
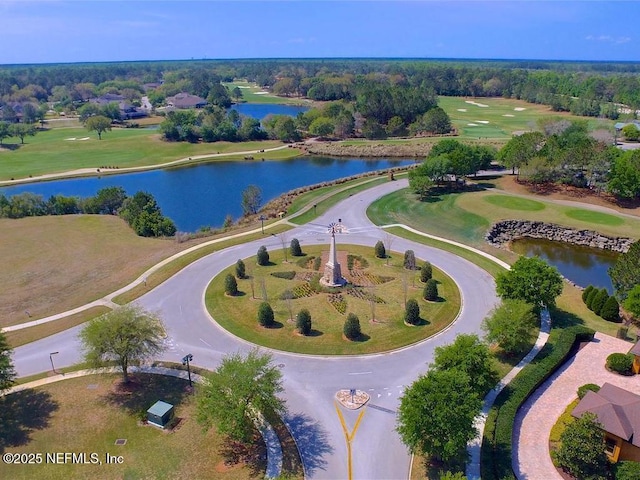
[(430, 370), (404, 391), (396, 429), (412, 452), (445, 462), (459, 459), (477, 433), (481, 407), (464, 372)]

